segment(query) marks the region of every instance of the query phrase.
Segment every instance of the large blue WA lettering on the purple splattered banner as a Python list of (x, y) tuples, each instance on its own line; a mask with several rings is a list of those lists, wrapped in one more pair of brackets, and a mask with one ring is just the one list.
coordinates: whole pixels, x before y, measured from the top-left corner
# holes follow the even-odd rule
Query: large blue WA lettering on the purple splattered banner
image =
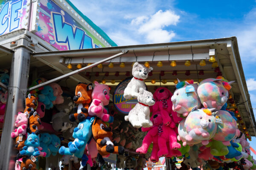
[(55, 31), (55, 41), (67, 45), (69, 50), (93, 48), (93, 40), (84, 30), (65, 23), (64, 17), (52, 12), (52, 21)]

